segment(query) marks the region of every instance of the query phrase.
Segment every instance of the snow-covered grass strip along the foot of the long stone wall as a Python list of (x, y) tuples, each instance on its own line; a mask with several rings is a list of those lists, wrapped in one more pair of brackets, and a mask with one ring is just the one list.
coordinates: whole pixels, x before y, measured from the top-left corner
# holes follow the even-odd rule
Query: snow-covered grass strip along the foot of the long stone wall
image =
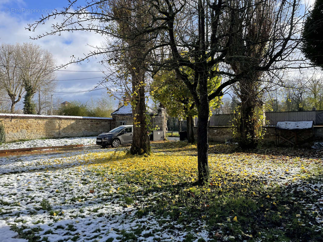
[(65, 146), (65, 145), (95, 145), (96, 137), (73, 137), (58, 139), (34, 139), (28, 141), (19, 141), (14, 143), (5, 143), (0, 145), (0, 150), (20, 149), (30, 147), (46, 147), (46, 146)]

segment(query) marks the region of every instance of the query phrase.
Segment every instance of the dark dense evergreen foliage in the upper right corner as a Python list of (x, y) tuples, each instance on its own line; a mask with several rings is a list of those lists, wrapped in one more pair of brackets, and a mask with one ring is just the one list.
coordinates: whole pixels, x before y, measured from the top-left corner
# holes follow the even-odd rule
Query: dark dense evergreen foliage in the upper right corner
[(315, 65), (323, 68), (323, 0), (316, 0), (306, 18), (302, 33), (302, 52)]

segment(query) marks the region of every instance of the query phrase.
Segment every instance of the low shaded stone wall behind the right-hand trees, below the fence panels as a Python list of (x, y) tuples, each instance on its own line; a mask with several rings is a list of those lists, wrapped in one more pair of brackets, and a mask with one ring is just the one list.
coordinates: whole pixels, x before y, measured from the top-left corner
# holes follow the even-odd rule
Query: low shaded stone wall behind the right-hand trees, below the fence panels
[[(213, 142), (224, 143), (226, 141), (234, 141), (230, 126), (210, 126), (209, 140)], [(275, 126), (265, 126), (266, 134), (263, 139), (264, 145), (276, 145)], [(308, 135), (311, 135), (310, 131)], [(197, 139), (197, 127), (194, 127), (194, 137)], [(314, 126), (314, 140), (322, 142), (323, 140), (323, 126)], [(308, 144), (307, 144), (308, 145)]]

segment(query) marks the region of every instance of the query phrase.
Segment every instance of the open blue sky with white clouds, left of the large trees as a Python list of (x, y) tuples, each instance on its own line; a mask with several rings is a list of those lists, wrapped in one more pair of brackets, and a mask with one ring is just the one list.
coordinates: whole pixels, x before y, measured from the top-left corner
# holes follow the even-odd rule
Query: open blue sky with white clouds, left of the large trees
[[(16, 42), (32, 42), (40, 45), (43, 49), (47, 49), (53, 54), (56, 59), (57, 65), (66, 64), (71, 60), (71, 56), (82, 56), (84, 53), (89, 53), (93, 50), (89, 45), (101, 45), (104, 38), (98, 34), (88, 32), (66, 32), (61, 36), (52, 35), (46, 36), (39, 40), (32, 40), (30, 36), (44, 33), (50, 28), (50, 24), (40, 25), (36, 32), (30, 32), (25, 29), (27, 24), (35, 22), (42, 14), (52, 12), (54, 9), (61, 9), (68, 5), (67, 0), (0, 0), (0, 44), (14, 44)], [(57, 22), (58, 20), (56, 20)], [(98, 59), (90, 59), (89, 62), (82, 63), (81, 65), (72, 64), (64, 70), (73, 71), (104, 71)], [(96, 100), (104, 94), (105, 90), (97, 90), (91, 92), (83, 92), (78, 94), (62, 94), (58, 92), (76, 92), (91, 90), (98, 86), (104, 76), (101, 72), (67, 72), (57, 71), (56, 80), (69, 80), (57, 81), (57, 87), (53, 92), (53, 100), (71, 101), (78, 100), (87, 102), (91, 97)], [(93, 78), (85, 80), (70, 80)], [(102, 86), (100, 86), (102, 87)], [(100, 88), (98, 87), (98, 88)], [(115, 101), (117, 103), (117, 101)], [(18, 108), (22, 108), (20, 103)]]

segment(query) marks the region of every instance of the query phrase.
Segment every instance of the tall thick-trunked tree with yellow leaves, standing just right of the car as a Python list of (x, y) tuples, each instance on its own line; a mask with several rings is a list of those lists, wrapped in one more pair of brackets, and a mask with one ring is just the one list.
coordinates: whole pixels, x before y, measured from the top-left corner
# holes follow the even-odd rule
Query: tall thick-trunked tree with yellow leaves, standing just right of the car
[(106, 12), (112, 7), (113, 17), (118, 24), (115, 31), (119, 33), (118, 38), (124, 47), (117, 51), (120, 53), (119, 65), (122, 63), (125, 67), (123, 77), (129, 76), (132, 84), (130, 96), (134, 121), (130, 153), (133, 155), (150, 153), (149, 116), (146, 114), (145, 102), (145, 53), (149, 48), (149, 36), (143, 31), (148, 22), (144, 6), (148, 7), (143, 0), (120, 0), (105, 7)]

